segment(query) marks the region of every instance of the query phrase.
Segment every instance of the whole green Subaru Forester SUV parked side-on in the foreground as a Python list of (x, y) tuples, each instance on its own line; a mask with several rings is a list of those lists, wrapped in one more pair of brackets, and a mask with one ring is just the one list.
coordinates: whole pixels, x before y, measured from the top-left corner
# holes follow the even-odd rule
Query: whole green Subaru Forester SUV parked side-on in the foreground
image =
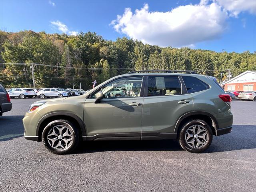
[[(124, 90), (115, 97), (114, 89)], [(34, 102), (24, 137), (66, 154), (82, 140), (176, 139), (193, 153), (231, 132), (231, 99), (216, 78), (190, 71), (135, 71), (84, 95)]]

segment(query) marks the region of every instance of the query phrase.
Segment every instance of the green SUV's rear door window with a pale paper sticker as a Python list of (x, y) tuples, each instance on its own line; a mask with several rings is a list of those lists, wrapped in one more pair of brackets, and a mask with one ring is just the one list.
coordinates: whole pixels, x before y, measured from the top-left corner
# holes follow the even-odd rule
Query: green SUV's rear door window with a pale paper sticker
[(178, 76), (148, 76), (148, 96), (171, 96), (181, 94)]

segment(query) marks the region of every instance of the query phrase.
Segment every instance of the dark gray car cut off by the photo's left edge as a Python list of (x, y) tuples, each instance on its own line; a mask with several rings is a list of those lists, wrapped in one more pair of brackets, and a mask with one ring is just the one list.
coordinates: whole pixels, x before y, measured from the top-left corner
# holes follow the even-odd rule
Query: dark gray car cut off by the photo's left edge
[[(10, 96), (4, 86), (0, 84), (0, 116), (3, 115), (4, 112), (12, 110), (12, 103)], [(1, 122), (0, 122), (1, 123)]]

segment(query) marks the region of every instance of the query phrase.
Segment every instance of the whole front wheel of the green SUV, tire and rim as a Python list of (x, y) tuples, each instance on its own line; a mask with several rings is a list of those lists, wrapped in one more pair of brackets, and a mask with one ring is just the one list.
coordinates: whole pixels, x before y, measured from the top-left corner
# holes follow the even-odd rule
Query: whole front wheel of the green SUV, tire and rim
[(68, 120), (52, 121), (43, 130), (42, 142), (54, 154), (70, 153), (79, 143), (78, 128)]

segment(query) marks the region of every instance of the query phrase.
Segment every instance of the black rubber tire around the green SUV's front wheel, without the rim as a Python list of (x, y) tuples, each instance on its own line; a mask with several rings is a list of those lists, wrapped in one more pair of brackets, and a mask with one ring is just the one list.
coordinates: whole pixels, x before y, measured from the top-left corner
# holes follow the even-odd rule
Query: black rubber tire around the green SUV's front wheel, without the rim
[[(71, 141), (70, 146), (68, 146), (67, 148), (55, 149), (48, 142), (48, 138), (47, 138), (48, 133), (56, 125), (66, 126), (67, 128), (70, 129), (70, 132), (72, 133), (73, 140)], [(42, 132), (42, 142), (43, 142), (44, 146), (46, 147), (46, 149), (48, 151), (50, 151), (51, 153), (54, 153), (54, 154), (68, 154), (68, 153), (72, 152), (78, 146), (79, 140), (80, 140), (80, 135), (79, 135), (78, 128), (76, 127), (76, 125), (74, 123), (72, 123), (71, 121), (65, 120), (65, 119), (54, 120), (54, 121), (50, 122), (44, 128), (44, 130)], [(57, 140), (56, 140), (56, 142), (57, 142)], [(62, 142), (62, 139), (58, 139), (58, 142)]]

